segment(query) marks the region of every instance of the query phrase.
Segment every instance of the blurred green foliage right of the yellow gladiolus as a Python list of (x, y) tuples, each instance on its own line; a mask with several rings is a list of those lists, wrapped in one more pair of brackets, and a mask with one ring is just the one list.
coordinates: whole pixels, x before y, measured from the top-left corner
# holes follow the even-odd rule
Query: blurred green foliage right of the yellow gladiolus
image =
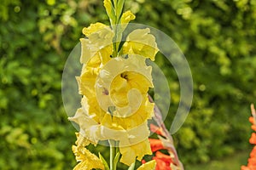
[[(189, 60), (194, 101), (174, 136), (184, 163), (247, 148), (249, 105), (256, 97), (255, 12), (255, 1), (148, 0), (137, 14), (137, 22), (170, 35)], [(172, 117), (179, 99), (177, 78), (172, 65), (157, 62), (171, 77)]]

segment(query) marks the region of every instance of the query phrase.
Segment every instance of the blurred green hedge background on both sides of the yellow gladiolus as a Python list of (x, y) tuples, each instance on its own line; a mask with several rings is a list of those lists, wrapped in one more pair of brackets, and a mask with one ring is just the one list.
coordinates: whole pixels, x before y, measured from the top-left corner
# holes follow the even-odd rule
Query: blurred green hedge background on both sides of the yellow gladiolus
[[(189, 61), (193, 105), (174, 134), (184, 167), (240, 169), (252, 149), (247, 118), (256, 100), (256, 1), (127, 0), (125, 8), (137, 14), (137, 23), (172, 37)], [(76, 130), (63, 108), (61, 74), (83, 27), (96, 21), (108, 24), (100, 0), (1, 1), (0, 169), (76, 164)], [(156, 62), (171, 77), (172, 117), (177, 77), (165, 59)]]

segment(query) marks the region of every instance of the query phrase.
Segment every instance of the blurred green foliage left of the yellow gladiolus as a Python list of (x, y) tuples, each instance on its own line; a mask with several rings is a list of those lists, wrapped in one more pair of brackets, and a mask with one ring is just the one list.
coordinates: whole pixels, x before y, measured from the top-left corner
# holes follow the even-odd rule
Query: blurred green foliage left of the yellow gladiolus
[(75, 1), (1, 5), (0, 169), (71, 169), (75, 131), (61, 73), (87, 23), (84, 9)]

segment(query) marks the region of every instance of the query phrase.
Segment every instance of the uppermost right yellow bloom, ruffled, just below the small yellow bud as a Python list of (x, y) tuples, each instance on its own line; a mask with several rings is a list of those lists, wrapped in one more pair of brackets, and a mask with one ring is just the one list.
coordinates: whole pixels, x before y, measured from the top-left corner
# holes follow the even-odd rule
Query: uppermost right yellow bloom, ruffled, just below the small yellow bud
[(123, 45), (123, 54), (139, 54), (151, 60), (158, 51), (155, 37), (148, 28), (132, 31)]

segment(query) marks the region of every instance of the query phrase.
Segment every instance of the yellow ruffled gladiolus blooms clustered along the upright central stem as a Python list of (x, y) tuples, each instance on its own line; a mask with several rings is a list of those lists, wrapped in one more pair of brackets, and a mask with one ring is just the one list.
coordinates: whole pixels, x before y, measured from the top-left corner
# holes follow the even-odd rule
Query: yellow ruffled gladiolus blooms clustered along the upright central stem
[[(131, 12), (122, 17), (124, 23), (134, 19)], [(83, 68), (77, 77), (79, 94), (83, 95), (82, 107), (69, 120), (79, 124), (80, 135), (90, 143), (117, 141), (120, 161), (131, 165), (151, 154), (147, 121), (153, 116), (154, 103), (148, 101), (148, 88), (154, 85), (152, 68), (145, 60), (154, 60), (158, 52), (154, 36), (148, 28), (131, 31), (119, 55), (112, 58), (114, 32), (109, 26), (91, 24), (83, 33), (85, 38), (80, 39)], [(80, 157), (91, 156), (85, 148), (78, 150), (73, 146), (73, 151), (83, 152)], [(84, 158), (80, 164), (85, 164)]]

